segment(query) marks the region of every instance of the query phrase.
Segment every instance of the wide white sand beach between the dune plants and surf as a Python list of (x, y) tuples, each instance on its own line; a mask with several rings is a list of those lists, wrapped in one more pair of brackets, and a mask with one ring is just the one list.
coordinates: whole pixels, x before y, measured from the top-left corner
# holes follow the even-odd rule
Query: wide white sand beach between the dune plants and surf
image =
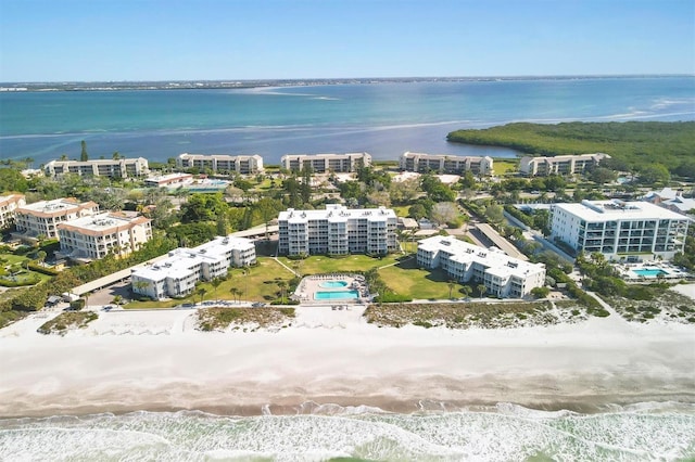
[(64, 337), (36, 333), (46, 321), (37, 315), (1, 330), (0, 415), (695, 399), (693, 325), (611, 316), (516, 330), (379, 329), (358, 307), (306, 307), (276, 333), (202, 333), (192, 313), (101, 312)]

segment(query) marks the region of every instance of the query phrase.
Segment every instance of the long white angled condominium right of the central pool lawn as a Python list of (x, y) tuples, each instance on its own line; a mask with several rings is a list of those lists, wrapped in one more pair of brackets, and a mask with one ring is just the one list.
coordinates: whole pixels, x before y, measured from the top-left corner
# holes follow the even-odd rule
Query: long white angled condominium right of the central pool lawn
[(545, 285), (545, 266), (513, 258), (498, 248), (468, 244), (454, 236), (435, 235), (419, 242), (417, 264), (441, 268), (459, 282), (485, 285), (497, 297), (521, 298)]

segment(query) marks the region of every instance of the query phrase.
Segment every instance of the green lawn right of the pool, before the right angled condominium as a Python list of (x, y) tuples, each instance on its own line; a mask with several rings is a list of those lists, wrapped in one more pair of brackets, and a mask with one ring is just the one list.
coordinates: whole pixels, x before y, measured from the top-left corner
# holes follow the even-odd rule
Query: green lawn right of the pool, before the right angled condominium
[[(387, 285), (401, 295), (408, 295), (413, 299), (443, 299), (448, 298), (448, 277), (442, 270), (426, 270), (417, 268), (415, 258), (399, 265), (382, 268), (379, 275)], [(455, 283), (452, 298), (460, 298), (463, 284)], [(478, 295), (473, 290), (473, 294)]]

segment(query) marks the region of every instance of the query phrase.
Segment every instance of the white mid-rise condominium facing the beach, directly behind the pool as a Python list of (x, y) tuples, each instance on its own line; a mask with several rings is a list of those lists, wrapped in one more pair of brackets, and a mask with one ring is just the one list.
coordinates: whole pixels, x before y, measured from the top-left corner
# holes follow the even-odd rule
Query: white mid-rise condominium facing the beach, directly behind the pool
[(325, 210), (281, 211), (278, 252), (286, 255), (383, 255), (396, 251), (397, 218), (390, 208), (349, 209), (328, 204)]

